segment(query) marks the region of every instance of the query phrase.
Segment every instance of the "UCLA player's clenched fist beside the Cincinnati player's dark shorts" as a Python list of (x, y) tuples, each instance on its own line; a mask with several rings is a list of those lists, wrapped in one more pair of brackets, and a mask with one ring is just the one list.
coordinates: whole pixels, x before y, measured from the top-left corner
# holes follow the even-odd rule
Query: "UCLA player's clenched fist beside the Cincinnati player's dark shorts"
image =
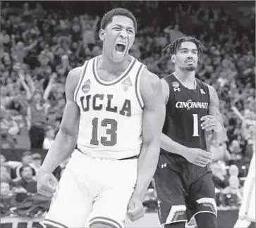
[(128, 203), (128, 212), (127, 215), (132, 222), (140, 219), (144, 216), (145, 210), (139, 198), (131, 197)]

